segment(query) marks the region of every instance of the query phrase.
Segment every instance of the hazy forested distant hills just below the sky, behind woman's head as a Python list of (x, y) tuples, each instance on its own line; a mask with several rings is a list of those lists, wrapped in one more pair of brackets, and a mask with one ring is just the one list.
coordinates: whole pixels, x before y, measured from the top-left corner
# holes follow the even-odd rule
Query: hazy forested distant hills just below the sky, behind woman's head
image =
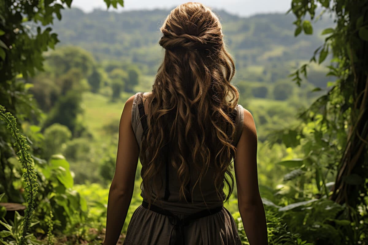
[[(223, 10), (220, 17), (224, 39), (242, 73), (249, 66), (272, 62), (308, 60), (322, 44), (321, 30), (332, 26), (325, 18), (314, 24), (314, 34), (294, 37), (292, 14), (259, 14), (241, 18)], [(61, 44), (75, 45), (93, 53), (98, 60), (116, 59), (140, 64), (145, 73), (154, 74), (162, 60), (159, 31), (170, 10), (85, 13), (78, 8), (62, 12), (54, 23)], [(289, 68), (288, 68), (289, 69)]]

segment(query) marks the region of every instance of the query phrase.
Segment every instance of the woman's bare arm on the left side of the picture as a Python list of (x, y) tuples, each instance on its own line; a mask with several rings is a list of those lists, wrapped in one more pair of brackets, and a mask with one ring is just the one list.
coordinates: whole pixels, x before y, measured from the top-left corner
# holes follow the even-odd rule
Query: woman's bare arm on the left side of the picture
[(103, 245), (116, 245), (134, 190), (139, 147), (131, 126), (134, 96), (125, 102), (119, 123), (119, 140), (114, 178), (107, 202), (106, 236)]

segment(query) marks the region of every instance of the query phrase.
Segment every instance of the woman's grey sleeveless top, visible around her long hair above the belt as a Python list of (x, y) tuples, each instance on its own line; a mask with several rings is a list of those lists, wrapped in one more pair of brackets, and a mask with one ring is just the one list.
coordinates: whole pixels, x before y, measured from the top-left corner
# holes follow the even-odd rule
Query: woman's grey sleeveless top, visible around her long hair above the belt
[[(137, 139), (139, 149), (141, 149), (141, 144), (142, 144), (141, 139), (142, 139), (142, 134), (144, 134), (144, 125), (142, 125), (142, 122), (140, 120), (140, 115), (139, 115), (139, 109), (144, 110), (144, 104), (139, 103), (142, 101), (142, 99), (143, 99), (143, 93), (138, 92), (135, 94), (134, 100), (133, 100), (132, 118), (131, 118), (132, 129)], [(139, 105), (141, 105), (140, 106), (141, 108), (139, 108)], [(233, 139), (234, 146), (236, 146), (239, 141), (239, 138), (240, 138), (240, 135), (243, 129), (243, 120), (244, 120), (243, 107), (240, 104), (238, 104), (235, 109), (236, 109), (236, 116), (234, 118), (234, 123), (236, 125), (236, 133)], [(146, 115), (145, 112), (144, 114)], [(141, 160), (140, 156), (139, 156), (139, 159)], [(170, 164), (166, 165), (166, 167), (168, 167), (166, 171), (164, 169), (162, 170), (162, 172), (160, 172), (160, 179), (163, 180), (162, 183), (165, 184), (165, 180), (166, 180), (166, 183), (168, 183), (167, 186), (165, 186), (167, 190), (165, 190), (165, 188), (162, 188), (160, 190), (160, 193), (152, 193), (152, 196), (149, 196), (149, 194), (145, 192), (144, 187), (142, 187), (141, 197), (143, 198), (144, 201), (148, 202), (148, 200), (151, 199), (153, 202), (153, 200), (156, 198), (156, 195), (158, 195), (157, 199), (160, 199), (160, 201), (158, 202), (158, 204), (156, 204), (157, 203), (157, 200), (156, 200), (154, 204), (160, 205), (162, 206), (162, 208), (169, 210), (172, 213), (176, 213), (178, 215), (190, 215), (190, 214), (196, 213), (206, 208), (211, 209), (211, 208), (215, 208), (217, 206), (223, 205), (223, 201), (220, 200), (216, 194), (215, 184), (213, 183), (214, 182), (213, 181), (213, 169), (211, 167), (209, 167), (207, 173), (202, 177), (201, 188), (199, 188), (199, 182), (194, 187), (191, 202), (187, 202), (185, 201), (185, 199), (182, 199), (182, 200), (179, 199), (180, 185), (178, 183), (176, 169), (174, 169)], [(141, 176), (143, 176), (143, 173), (144, 173), (143, 170), (144, 170), (144, 163), (142, 163)], [(198, 175), (196, 174), (197, 173), (194, 173), (194, 172), (190, 173), (191, 180), (198, 179)], [(194, 185), (194, 183), (192, 183), (191, 185)], [(169, 195), (167, 192), (169, 193)], [(224, 196), (223, 191), (221, 194)]]

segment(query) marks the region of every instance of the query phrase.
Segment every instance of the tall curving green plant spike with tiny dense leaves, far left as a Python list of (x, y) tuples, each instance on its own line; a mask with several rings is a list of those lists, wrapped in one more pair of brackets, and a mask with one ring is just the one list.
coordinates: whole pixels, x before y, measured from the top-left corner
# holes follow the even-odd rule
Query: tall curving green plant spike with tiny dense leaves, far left
[(29, 227), (31, 227), (31, 219), (35, 206), (35, 197), (38, 191), (38, 183), (36, 172), (34, 169), (34, 161), (31, 155), (28, 154), (27, 149), (29, 149), (29, 145), (26, 143), (26, 137), (18, 133), (19, 129), (17, 128), (17, 120), (10, 112), (5, 112), (6, 109), (0, 105), (0, 119), (6, 123), (7, 129), (9, 129), (15, 139), (14, 147), (18, 149), (17, 154), (19, 154), (19, 161), (22, 164), (22, 168), (26, 171), (23, 173), (23, 179), (25, 182), (25, 190), (28, 195), (26, 198), (26, 202), (28, 203), (27, 208), (25, 209), (25, 218), (22, 227), (22, 236), (20, 238), (20, 244), (25, 244), (25, 239), (27, 235), (27, 231)]

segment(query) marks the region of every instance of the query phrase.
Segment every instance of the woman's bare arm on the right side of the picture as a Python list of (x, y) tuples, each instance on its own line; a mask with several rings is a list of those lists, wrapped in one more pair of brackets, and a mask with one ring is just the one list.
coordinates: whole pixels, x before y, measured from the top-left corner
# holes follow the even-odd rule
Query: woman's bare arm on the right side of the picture
[(258, 188), (257, 141), (252, 114), (244, 109), (243, 131), (234, 159), (238, 208), (250, 245), (266, 245), (266, 216)]

